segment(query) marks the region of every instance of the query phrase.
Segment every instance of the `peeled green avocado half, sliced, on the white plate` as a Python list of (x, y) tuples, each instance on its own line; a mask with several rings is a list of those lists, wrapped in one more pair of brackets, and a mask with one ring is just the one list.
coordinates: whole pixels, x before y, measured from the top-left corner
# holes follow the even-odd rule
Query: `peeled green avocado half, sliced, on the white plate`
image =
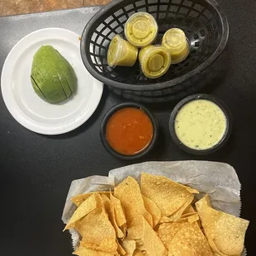
[(45, 102), (59, 103), (77, 90), (78, 79), (69, 62), (50, 45), (41, 46), (34, 55), (31, 83)]

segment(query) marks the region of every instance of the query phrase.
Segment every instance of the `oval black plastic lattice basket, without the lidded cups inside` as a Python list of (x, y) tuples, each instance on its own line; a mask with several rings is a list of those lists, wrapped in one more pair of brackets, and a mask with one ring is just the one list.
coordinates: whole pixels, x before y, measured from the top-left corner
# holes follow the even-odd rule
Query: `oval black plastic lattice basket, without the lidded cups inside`
[[(135, 12), (149, 12), (159, 25), (161, 42), (164, 32), (178, 27), (185, 31), (191, 52), (180, 64), (171, 65), (161, 78), (146, 78), (137, 62), (133, 67), (111, 68), (107, 49), (116, 34), (124, 36), (127, 19)], [(81, 39), (83, 63), (93, 77), (123, 96), (159, 97), (187, 90), (200, 79), (200, 73), (224, 50), (229, 35), (225, 13), (215, 0), (113, 0), (97, 12), (85, 26)], [(196, 88), (195, 88), (196, 89)], [(143, 99), (142, 99), (143, 100)]]

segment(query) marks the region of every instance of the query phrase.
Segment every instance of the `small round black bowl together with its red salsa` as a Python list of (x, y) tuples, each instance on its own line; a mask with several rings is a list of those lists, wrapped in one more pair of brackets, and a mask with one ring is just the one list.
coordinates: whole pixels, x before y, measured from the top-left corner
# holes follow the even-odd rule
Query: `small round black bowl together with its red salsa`
[(105, 149), (118, 159), (139, 159), (154, 147), (158, 124), (144, 106), (126, 102), (112, 107), (103, 117), (101, 139)]

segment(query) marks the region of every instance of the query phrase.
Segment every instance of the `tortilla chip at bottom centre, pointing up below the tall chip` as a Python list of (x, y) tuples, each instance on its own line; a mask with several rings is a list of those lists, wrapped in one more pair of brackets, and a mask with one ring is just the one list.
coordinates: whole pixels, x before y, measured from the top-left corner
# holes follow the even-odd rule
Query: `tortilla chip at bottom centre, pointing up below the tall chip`
[(166, 256), (168, 254), (159, 236), (154, 232), (144, 216), (136, 216), (128, 228), (128, 239), (136, 241), (136, 248), (150, 256)]

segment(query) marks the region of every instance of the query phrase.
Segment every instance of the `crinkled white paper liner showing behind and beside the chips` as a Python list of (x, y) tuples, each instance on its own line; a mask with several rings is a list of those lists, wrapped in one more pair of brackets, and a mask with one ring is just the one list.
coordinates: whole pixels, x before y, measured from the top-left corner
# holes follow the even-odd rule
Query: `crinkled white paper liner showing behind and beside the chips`
[[(74, 180), (64, 206), (62, 216), (64, 224), (69, 221), (76, 209), (70, 201), (72, 197), (86, 192), (108, 191), (127, 176), (139, 181), (140, 173), (162, 175), (178, 183), (197, 188), (201, 192), (198, 197), (202, 197), (205, 193), (210, 195), (212, 206), (216, 210), (225, 211), (234, 216), (240, 214), (241, 184), (235, 169), (229, 164), (207, 161), (145, 162), (113, 169), (108, 173), (108, 177), (90, 176)], [(78, 246), (79, 235), (75, 230), (70, 230), (70, 234), (75, 249)], [(242, 255), (246, 255), (245, 252)]]

